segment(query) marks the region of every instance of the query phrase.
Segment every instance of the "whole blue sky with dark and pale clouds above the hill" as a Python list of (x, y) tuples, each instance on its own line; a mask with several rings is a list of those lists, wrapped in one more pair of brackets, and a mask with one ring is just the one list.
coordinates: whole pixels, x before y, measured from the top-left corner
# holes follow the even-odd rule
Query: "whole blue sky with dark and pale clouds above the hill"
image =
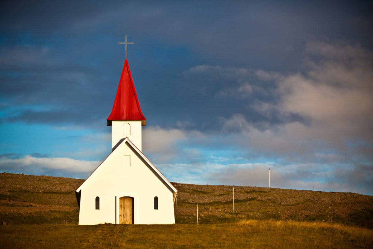
[(9, 1), (0, 171), (87, 178), (128, 45), (143, 152), (170, 180), (373, 194), (372, 4)]

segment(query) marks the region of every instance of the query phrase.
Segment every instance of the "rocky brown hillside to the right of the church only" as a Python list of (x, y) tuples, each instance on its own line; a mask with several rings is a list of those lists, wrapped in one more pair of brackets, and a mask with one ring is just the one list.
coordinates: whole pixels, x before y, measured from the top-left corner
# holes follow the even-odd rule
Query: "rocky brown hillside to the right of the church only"
[[(179, 190), (176, 220), (195, 220), (196, 205), (202, 224), (235, 218), (329, 221), (373, 228), (373, 196), (357, 193), (173, 183)], [(185, 222), (187, 223), (187, 222)]]

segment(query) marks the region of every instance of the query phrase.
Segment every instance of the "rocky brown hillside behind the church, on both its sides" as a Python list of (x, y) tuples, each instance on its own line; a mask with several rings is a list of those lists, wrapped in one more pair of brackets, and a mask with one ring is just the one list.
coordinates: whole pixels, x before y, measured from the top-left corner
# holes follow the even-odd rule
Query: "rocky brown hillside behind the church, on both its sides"
[[(81, 179), (0, 173), (0, 222), (77, 222), (75, 190)], [(239, 219), (300, 220), (354, 224), (373, 228), (373, 196), (235, 186), (172, 183), (178, 189), (179, 224), (233, 222)]]

